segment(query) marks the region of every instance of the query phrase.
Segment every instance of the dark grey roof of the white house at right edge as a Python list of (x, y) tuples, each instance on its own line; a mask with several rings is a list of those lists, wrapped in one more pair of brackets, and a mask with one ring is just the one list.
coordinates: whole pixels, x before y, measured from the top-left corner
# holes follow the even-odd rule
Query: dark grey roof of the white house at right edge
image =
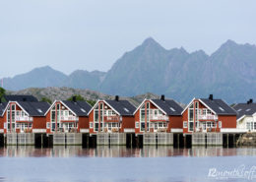
[(237, 119), (243, 115), (251, 116), (256, 113), (256, 103), (237, 103), (233, 106), (233, 109), (237, 112)]

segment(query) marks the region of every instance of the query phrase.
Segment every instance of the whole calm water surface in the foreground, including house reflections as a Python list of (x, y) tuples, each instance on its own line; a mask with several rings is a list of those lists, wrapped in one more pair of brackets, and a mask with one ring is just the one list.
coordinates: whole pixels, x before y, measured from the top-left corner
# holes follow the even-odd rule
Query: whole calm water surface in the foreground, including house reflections
[(256, 149), (7, 147), (0, 148), (3, 181), (256, 181)]

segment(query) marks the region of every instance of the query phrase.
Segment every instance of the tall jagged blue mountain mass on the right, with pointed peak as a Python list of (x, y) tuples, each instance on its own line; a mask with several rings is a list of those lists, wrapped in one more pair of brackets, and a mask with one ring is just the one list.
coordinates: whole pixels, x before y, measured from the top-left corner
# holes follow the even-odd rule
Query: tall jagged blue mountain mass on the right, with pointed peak
[(227, 102), (256, 97), (256, 46), (227, 40), (215, 53), (166, 50), (153, 38), (124, 54), (105, 76), (109, 94), (164, 93), (181, 102), (214, 93)]

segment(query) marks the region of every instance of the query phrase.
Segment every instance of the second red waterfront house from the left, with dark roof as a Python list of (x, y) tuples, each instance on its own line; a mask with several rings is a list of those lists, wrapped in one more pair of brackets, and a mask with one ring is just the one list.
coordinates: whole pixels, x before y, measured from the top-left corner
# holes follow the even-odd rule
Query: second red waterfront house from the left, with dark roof
[(88, 113), (92, 106), (75, 98), (55, 100), (45, 113), (47, 133), (89, 133)]

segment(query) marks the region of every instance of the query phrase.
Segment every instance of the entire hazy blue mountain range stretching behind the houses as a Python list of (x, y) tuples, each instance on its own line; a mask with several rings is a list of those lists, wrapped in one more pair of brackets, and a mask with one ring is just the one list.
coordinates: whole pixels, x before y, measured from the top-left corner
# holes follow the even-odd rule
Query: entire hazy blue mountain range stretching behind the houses
[(213, 54), (165, 49), (152, 37), (126, 52), (107, 72), (77, 70), (65, 75), (49, 66), (4, 79), (4, 88), (69, 87), (132, 96), (165, 94), (187, 103), (193, 97), (223, 98), (228, 103), (256, 98), (256, 46), (227, 40)]

